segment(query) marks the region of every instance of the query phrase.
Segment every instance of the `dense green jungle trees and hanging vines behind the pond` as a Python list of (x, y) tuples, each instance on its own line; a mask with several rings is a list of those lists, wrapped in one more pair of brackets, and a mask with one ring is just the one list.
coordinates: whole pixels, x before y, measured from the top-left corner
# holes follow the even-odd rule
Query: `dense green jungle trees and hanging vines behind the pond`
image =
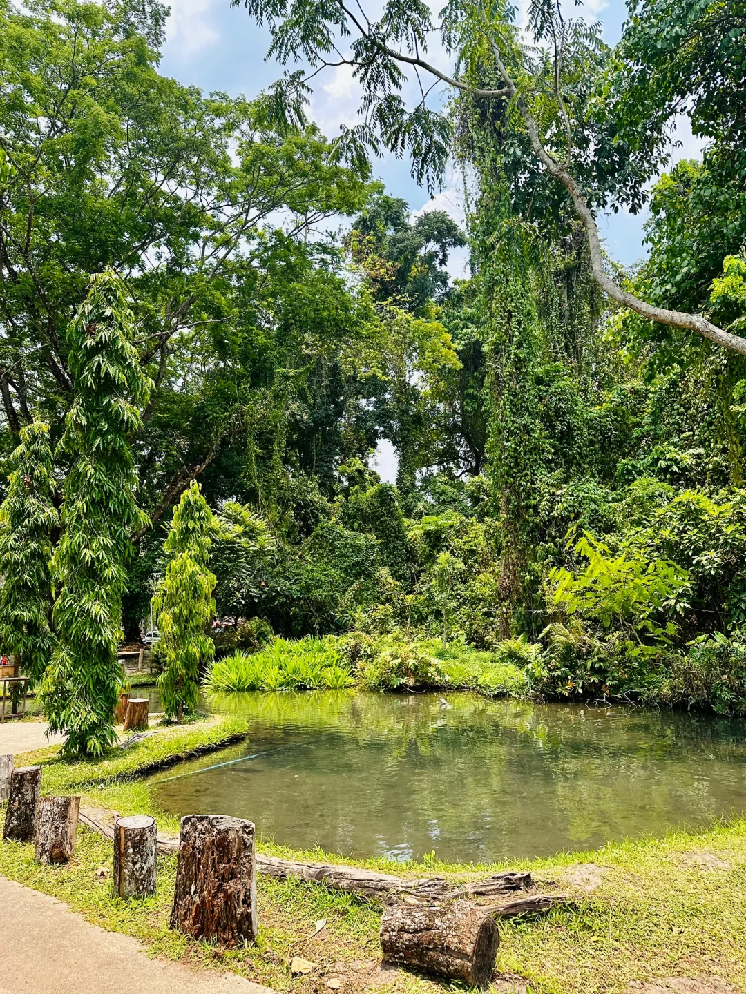
[[(246, 7), (289, 67), (252, 99), (159, 72), (160, 3), (0, 0), (2, 496), (36, 417), (58, 546), (70, 424), (114, 410), (77, 387), (110, 308), (76, 319), (113, 271), (126, 637), (196, 480), (235, 641), (415, 629), (508, 645), (548, 695), (746, 710), (746, 4), (630, 0), (612, 48), (548, 0), (525, 29), (501, 0)], [(303, 101), (340, 60), (361, 118), (330, 139)], [(669, 167), (680, 115), (704, 150)], [(432, 188), (462, 170), (466, 231), (387, 194), (384, 148)], [(594, 219), (646, 202), (624, 269)]]

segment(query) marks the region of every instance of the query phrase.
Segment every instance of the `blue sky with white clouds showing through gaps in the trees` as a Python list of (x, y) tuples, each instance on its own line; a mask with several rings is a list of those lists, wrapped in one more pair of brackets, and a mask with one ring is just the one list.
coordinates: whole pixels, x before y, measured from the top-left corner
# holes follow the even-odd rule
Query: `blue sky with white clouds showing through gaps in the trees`
[[(439, 10), (443, 2), (431, 0), (431, 5)], [(518, 2), (525, 5), (525, 0)], [(565, 2), (568, 7), (573, 6), (571, 0)], [(586, 0), (582, 7), (587, 21), (602, 22), (603, 37), (609, 44), (619, 39), (626, 10), (625, 0)], [(277, 63), (265, 61), (271, 41), (269, 32), (258, 28), (243, 8), (232, 8), (230, 0), (171, 0), (166, 36), (161, 71), (181, 83), (198, 85), (206, 91), (221, 90), (232, 96), (244, 93), (252, 97), (281, 76)], [(445, 54), (441, 53), (440, 57), (434, 54), (431, 58), (442, 69), (448, 68)], [(314, 84), (310, 114), (324, 133), (333, 137), (340, 122), (352, 124), (357, 119), (357, 88), (346, 69), (326, 70), (316, 77)], [(681, 148), (674, 152), (674, 160), (699, 152), (686, 121), (681, 122), (677, 137)], [(410, 176), (408, 162), (389, 156), (376, 160), (374, 171), (385, 182), (388, 192), (404, 197), (413, 212), (437, 207), (463, 220), (463, 193), (458, 177), (451, 177), (446, 189), (431, 200), (427, 191)], [(629, 264), (644, 256), (645, 219), (645, 212), (637, 217), (620, 212), (599, 219), (612, 258)], [(451, 260), (449, 268), (453, 275), (462, 275), (465, 266), (466, 249), (463, 249)], [(393, 451), (388, 443), (383, 443), (379, 470), (384, 478), (391, 479), (395, 468)]]

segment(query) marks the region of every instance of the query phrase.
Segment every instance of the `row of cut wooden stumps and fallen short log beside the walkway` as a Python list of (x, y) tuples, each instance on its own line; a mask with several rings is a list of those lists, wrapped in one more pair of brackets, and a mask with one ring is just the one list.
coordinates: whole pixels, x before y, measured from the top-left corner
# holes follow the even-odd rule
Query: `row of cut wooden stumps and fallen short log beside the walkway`
[[(12, 767), (12, 756), (0, 756), (0, 801), (8, 800), (3, 838), (35, 840), (39, 862), (67, 862), (75, 851), (80, 797), (40, 797), (41, 767), (8, 769), (8, 760)], [(194, 814), (181, 819), (172, 928), (231, 948), (256, 938), (254, 841), (254, 824), (242, 818)], [(115, 895), (141, 899), (155, 894), (157, 845), (155, 819), (148, 815), (114, 821)], [(381, 920), (385, 961), (470, 986), (489, 984), (498, 945), (490, 910), (466, 900), (405, 901), (386, 908)]]

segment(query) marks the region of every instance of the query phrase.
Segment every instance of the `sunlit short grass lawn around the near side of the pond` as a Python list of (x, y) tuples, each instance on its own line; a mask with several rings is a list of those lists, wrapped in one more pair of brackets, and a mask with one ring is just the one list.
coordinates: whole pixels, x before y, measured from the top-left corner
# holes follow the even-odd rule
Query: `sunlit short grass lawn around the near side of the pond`
[[(96, 763), (62, 761), (54, 757), (54, 747), (17, 757), (17, 763), (43, 762), (47, 792), (80, 792), (84, 805), (121, 813), (148, 811), (162, 829), (174, 831), (175, 820), (154, 810), (147, 781), (137, 779), (137, 773), (199, 748), (235, 741), (246, 731), (240, 720), (213, 718), (163, 730), (126, 750), (112, 750)], [(289, 854), (271, 843), (261, 848)], [(317, 852), (305, 855), (319, 858)], [(381, 909), (314, 884), (260, 875), (261, 931), (251, 947), (220, 950), (171, 932), (175, 862), (175, 857), (159, 859), (156, 898), (125, 903), (111, 897), (110, 878), (95, 875), (99, 867), (110, 873), (111, 844), (93, 832), (80, 829), (76, 860), (67, 867), (37, 866), (31, 845), (0, 845), (0, 873), (60, 898), (104, 928), (134, 935), (155, 954), (235, 970), (298, 994), (328, 994), (325, 981), (330, 976), (339, 977), (342, 994), (374, 984), (423, 994), (443, 990), (413, 975), (381, 974), (375, 966)], [(382, 860), (368, 865), (402, 871), (401, 864)], [(530, 869), (542, 890), (577, 901), (573, 910), (501, 927), (497, 968), (526, 978), (530, 991), (613, 994), (624, 991), (630, 980), (717, 976), (746, 992), (746, 821), (511, 867)], [(435, 863), (408, 869), (425, 875), (485, 876), (504, 867)], [(320, 918), (326, 925), (311, 938)], [(289, 960), (295, 955), (319, 968), (305, 977), (290, 977)]]

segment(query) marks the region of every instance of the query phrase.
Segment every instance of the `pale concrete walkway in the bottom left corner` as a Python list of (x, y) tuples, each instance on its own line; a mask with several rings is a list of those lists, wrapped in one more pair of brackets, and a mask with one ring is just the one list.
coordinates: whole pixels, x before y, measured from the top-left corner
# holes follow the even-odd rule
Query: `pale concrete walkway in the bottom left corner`
[(148, 959), (135, 939), (0, 877), (0, 994), (274, 994), (235, 973)]

